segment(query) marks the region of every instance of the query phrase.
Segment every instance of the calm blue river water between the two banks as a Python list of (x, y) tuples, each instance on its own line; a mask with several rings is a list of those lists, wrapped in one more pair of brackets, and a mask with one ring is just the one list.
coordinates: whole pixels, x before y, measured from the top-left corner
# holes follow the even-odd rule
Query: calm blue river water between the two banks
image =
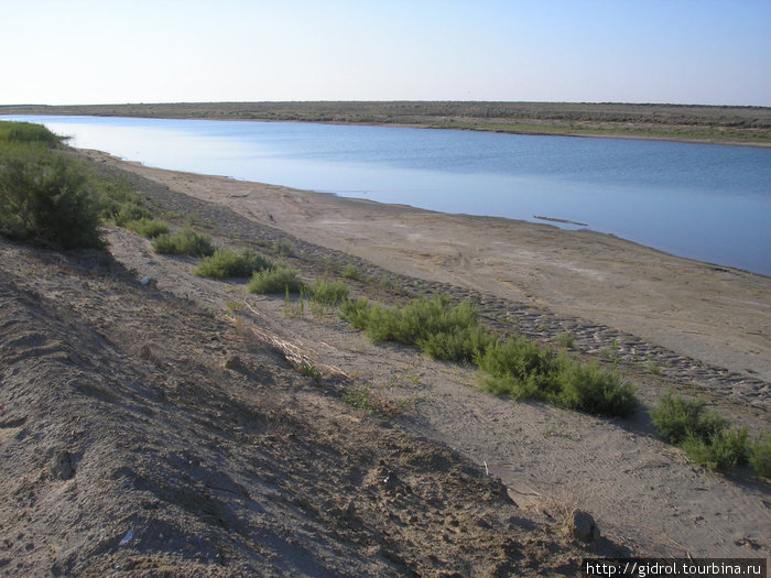
[(771, 275), (769, 149), (291, 122), (13, 118), (151, 166), (445, 212), (565, 219), (583, 225), (550, 222)]

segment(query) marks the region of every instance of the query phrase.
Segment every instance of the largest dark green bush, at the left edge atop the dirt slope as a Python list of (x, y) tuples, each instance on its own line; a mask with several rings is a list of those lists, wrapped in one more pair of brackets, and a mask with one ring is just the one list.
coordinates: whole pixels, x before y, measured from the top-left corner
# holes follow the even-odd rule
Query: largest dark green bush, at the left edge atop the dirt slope
[[(36, 129), (21, 132), (29, 130)], [(104, 248), (83, 165), (44, 143), (12, 138), (0, 144), (0, 232), (59, 249)]]

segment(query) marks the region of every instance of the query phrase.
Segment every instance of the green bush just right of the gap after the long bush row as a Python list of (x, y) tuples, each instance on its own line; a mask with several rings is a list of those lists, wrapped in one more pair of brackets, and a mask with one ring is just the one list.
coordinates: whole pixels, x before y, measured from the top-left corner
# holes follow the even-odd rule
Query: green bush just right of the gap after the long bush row
[(651, 411), (651, 419), (659, 435), (675, 445), (688, 436), (708, 440), (729, 425), (728, 419), (705, 410), (703, 400), (686, 400), (671, 392), (661, 396)]

